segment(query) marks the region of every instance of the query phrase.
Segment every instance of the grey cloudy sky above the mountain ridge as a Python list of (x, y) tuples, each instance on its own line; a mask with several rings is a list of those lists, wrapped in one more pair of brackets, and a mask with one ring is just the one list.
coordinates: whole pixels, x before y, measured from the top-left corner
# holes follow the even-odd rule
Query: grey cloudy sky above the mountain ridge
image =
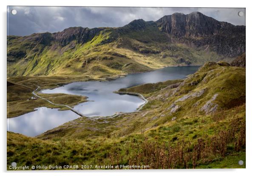
[[(17, 10), (16, 15), (11, 10)], [(140, 8), (140, 7), (39, 7), (9, 6), (8, 35), (58, 32), (68, 27), (121, 27), (134, 19), (156, 21), (175, 12), (199, 11), (219, 21), (245, 25), (245, 8)], [(244, 16), (238, 16), (243, 11)]]

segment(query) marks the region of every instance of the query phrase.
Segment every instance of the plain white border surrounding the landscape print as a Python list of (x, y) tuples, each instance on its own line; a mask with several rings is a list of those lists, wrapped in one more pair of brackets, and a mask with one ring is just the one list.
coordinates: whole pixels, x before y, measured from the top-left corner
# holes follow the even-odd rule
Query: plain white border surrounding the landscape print
[[(256, 124), (256, 113), (254, 110), (255, 104), (255, 66), (256, 66), (256, 53), (255, 53), (255, 5), (253, 1), (245, 1), (245, 0), (97, 0), (97, 1), (80, 1), (80, 0), (8, 0), (8, 1), (0, 1), (0, 9), (1, 9), (1, 35), (0, 35), (0, 49), (1, 49), (1, 71), (0, 71), (0, 80), (1, 80), (1, 104), (0, 104), (0, 112), (1, 115), (1, 159), (0, 159), (0, 168), (1, 172), (4, 172), (3, 175), (14, 175), (18, 174), (21, 176), (27, 175), (61, 175), (61, 176), (69, 176), (71, 175), (70, 171), (65, 172), (17, 172), (17, 173), (6, 173), (6, 6), (7, 5), (43, 5), (43, 6), (142, 6), (142, 7), (242, 7), (246, 8), (246, 70), (247, 70), (247, 82), (246, 82), (246, 93), (247, 93), (247, 104), (246, 104), (246, 169), (210, 169), (210, 170), (87, 170), (87, 171), (73, 171), (72, 175), (103, 175), (104, 176), (113, 176), (113, 175), (141, 175), (147, 174), (147, 176), (155, 176), (157, 173), (162, 175), (189, 175), (189, 176), (216, 176), (216, 175), (224, 175), (228, 174), (232, 176), (241, 176), (241, 175), (252, 175), (254, 172), (255, 165), (255, 124)], [(142, 173), (143, 172), (143, 173)]]

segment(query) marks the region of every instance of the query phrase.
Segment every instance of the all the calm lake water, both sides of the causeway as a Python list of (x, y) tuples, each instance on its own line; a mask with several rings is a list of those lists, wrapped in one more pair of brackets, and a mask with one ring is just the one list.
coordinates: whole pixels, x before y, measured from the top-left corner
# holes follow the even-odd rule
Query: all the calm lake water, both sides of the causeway
[[(67, 93), (87, 96), (91, 102), (84, 102), (74, 107), (79, 112), (94, 116), (111, 116), (117, 112), (133, 112), (145, 103), (138, 96), (113, 93), (120, 88), (129, 88), (145, 83), (162, 82), (185, 78), (193, 74), (199, 66), (166, 67), (156, 71), (128, 74), (113, 81), (73, 82), (62, 87), (43, 90), (42, 93)], [(8, 119), (8, 130), (28, 136), (39, 135), (49, 129), (78, 118), (71, 110), (59, 111), (46, 107)]]

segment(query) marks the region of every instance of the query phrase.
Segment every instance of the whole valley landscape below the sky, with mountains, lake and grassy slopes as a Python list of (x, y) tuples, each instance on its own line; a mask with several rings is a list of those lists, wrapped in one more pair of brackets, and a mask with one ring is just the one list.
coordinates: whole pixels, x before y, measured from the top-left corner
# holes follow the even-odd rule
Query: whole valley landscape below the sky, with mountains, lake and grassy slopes
[(200, 12), (7, 36), (7, 170), (245, 168), (245, 72), (245, 26)]

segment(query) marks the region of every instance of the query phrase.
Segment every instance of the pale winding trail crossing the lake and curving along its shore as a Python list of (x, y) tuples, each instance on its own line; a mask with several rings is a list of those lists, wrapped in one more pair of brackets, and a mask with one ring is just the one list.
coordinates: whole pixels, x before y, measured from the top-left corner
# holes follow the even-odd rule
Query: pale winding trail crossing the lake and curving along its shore
[[(74, 108), (68, 106), (68, 105), (65, 105), (65, 104), (56, 104), (56, 103), (53, 103), (51, 102), (50, 100), (46, 99), (46, 98), (43, 98), (42, 96), (39, 96), (37, 95), (36, 91), (40, 88), (40, 86), (37, 85), (37, 88), (32, 92), (32, 94), (34, 96), (37, 96), (38, 98), (40, 99), (44, 99), (46, 100), (47, 102), (51, 103), (51, 104), (54, 104), (54, 105), (57, 105), (57, 106), (64, 106), (64, 107), (67, 107), (68, 109), (70, 109), (71, 111), (73, 111), (74, 113), (80, 115), (81, 117), (85, 117), (85, 118), (92, 118), (92, 119), (107, 119), (107, 118), (114, 118), (114, 117), (117, 117), (118, 115), (122, 115), (122, 114), (128, 114), (128, 113), (116, 113), (112, 116), (108, 116), (108, 117), (101, 117), (101, 116), (97, 116), (97, 117), (90, 117), (90, 116), (87, 116), (87, 115), (84, 115), (83, 113), (80, 113), (79, 111), (75, 110)], [(148, 103), (148, 100), (144, 98), (144, 96), (140, 93), (134, 93), (134, 92), (119, 92), (119, 91), (114, 91), (114, 93), (118, 93), (118, 94), (127, 94), (127, 95), (135, 95), (135, 96), (139, 96), (139, 98), (143, 99), (145, 101), (144, 104), (140, 105), (137, 110), (131, 112), (131, 113), (135, 113), (135, 112), (138, 112), (139, 110), (142, 109), (142, 107)]]

